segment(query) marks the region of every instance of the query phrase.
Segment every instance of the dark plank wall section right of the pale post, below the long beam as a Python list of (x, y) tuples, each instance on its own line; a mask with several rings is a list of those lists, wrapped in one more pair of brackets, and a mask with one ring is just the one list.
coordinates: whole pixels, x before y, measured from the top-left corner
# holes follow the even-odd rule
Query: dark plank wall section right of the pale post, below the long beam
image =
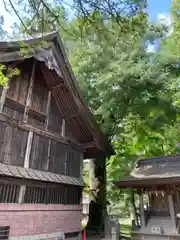
[(30, 155), (30, 168), (80, 177), (80, 159), (81, 152), (78, 150), (55, 141), (51, 141), (49, 150), (48, 138), (34, 134)]

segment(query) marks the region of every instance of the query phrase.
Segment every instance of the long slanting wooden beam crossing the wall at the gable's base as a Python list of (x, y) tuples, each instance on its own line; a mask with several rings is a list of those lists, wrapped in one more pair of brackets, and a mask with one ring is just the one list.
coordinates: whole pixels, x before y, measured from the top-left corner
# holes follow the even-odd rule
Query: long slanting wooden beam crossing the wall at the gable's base
[(84, 146), (83, 144), (79, 144), (77, 142), (75, 142), (74, 140), (72, 139), (69, 139), (67, 137), (62, 137), (60, 134), (56, 134), (56, 133), (52, 133), (52, 132), (49, 132), (47, 130), (43, 130), (43, 129), (39, 129), (35, 126), (32, 126), (32, 125), (29, 125), (27, 123), (24, 123), (24, 122), (20, 122), (16, 119), (12, 119), (10, 118), (9, 116), (7, 116), (5, 113), (1, 113), (0, 114), (0, 119), (3, 121), (3, 122), (6, 122), (14, 127), (18, 127), (22, 130), (25, 130), (25, 131), (28, 131), (28, 132), (33, 132), (33, 133), (36, 133), (40, 136), (43, 136), (43, 137), (46, 137), (46, 138), (50, 138), (56, 142), (61, 142), (61, 143), (64, 143), (66, 145), (71, 145), (73, 146), (74, 148), (77, 148), (81, 151), (84, 150)]

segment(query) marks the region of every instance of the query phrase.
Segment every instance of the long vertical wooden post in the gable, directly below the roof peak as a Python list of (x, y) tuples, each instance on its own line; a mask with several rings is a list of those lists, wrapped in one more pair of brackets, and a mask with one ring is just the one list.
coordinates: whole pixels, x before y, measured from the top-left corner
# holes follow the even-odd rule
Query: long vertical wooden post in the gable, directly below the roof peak
[(27, 122), (27, 120), (28, 120), (28, 111), (29, 111), (29, 107), (30, 107), (30, 104), (31, 104), (35, 69), (36, 69), (36, 60), (34, 60), (33, 66), (32, 66), (31, 78), (30, 78), (30, 83), (29, 83), (29, 87), (28, 87), (27, 99), (26, 99), (26, 107), (25, 107), (25, 110), (24, 110), (24, 118), (23, 118), (24, 122)]

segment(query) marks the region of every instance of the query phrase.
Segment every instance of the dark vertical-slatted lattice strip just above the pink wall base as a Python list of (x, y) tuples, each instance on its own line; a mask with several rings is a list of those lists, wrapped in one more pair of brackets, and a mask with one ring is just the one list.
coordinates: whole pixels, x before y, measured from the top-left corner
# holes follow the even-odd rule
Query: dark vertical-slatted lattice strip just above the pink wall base
[(0, 183), (0, 203), (18, 203), (20, 188), (24, 186), (23, 200), (26, 204), (80, 204), (82, 188), (68, 184), (39, 184), (21, 180)]

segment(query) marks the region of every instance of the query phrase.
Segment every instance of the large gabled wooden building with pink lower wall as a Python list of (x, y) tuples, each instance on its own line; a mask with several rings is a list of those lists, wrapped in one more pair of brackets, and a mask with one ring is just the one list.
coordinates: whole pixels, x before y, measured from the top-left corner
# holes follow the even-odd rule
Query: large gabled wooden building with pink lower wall
[(112, 149), (56, 32), (1, 41), (0, 63), (20, 71), (0, 89), (0, 239), (80, 239), (83, 159)]

